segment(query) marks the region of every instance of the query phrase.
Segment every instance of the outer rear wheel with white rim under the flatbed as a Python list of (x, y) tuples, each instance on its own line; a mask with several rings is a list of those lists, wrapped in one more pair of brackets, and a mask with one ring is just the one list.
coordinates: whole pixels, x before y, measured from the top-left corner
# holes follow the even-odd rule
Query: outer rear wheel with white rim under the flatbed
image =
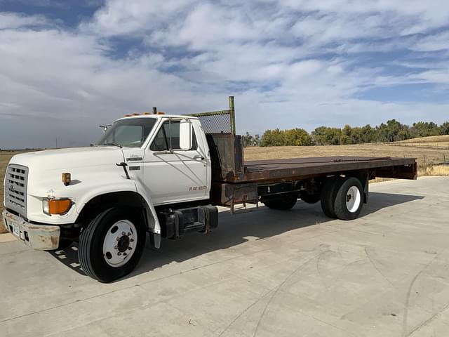
[(346, 178), (335, 197), (335, 216), (341, 220), (358, 218), (363, 207), (363, 187), (360, 180)]

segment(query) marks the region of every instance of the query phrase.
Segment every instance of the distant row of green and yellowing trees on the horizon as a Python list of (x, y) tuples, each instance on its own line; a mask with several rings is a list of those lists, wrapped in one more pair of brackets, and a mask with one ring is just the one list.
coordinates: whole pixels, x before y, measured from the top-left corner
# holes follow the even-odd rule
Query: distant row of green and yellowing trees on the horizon
[(418, 121), (412, 126), (401, 124), (396, 119), (378, 126), (349, 126), (330, 128), (319, 126), (311, 133), (303, 128), (290, 130), (267, 130), (259, 135), (246, 133), (243, 136), (245, 146), (308, 146), (308, 145), (347, 145), (360, 143), (396, 142), (417, 137), (449, 135), (449, 121), (439, 125), (433, 121)]

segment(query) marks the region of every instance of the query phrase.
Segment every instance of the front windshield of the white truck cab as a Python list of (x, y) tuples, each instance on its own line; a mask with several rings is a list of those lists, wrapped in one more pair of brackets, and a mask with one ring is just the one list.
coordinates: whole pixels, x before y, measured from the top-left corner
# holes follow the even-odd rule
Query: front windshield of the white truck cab
[(95, 145), (140, 147), (155, 123), (155, 118), (120, 119), (107, 129)]

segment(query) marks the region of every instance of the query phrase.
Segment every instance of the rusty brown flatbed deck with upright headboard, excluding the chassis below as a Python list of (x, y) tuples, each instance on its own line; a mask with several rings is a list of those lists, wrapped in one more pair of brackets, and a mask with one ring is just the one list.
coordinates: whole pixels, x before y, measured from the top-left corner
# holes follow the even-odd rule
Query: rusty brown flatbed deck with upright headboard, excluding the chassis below
[[(229, 206), (234, 211), (236, 204), (256, 204), (260, 199), (260, 187), (292, 183), (326, 176), (354, 175), (416, 179), (415, 158), (391, 157), (307, 157), (293, 159), (267, 159), (244, 161), (243, 140), (236, 135), (234, 97), (229, 96), (229, 109), (214, 112), (189, 114), (199, 117), (203, 124), (210, 119), (227, 121), (220, 132), (208, 132), (206, 138), (212, 161), (212, 188), (210, 201), (220, 206)], [(203, 125), (204, 128), (204, 125)], [(227, 128), (227, 129), (226, 129)]]

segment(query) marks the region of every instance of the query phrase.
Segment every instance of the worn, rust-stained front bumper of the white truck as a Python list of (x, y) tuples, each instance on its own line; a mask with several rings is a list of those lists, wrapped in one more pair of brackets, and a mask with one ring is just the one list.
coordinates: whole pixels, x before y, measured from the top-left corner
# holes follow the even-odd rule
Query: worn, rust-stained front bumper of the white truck
[(60, 227), (52, 225), (35, 225), (25, 219), (6, 211), (1, 213), (6, 229), (32, 249), (51, 251), (58, 249)]

